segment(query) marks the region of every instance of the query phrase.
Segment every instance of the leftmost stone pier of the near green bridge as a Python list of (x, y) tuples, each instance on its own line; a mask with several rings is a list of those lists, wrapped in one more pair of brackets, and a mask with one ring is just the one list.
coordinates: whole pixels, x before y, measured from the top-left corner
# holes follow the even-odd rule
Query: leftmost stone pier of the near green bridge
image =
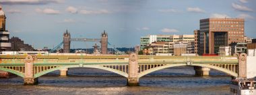
[(24, 76), (24, 85), (34, 85), (38, 84), (38, 79), (34, 78), (34, 60), (35, 56), (28, 55), (25, 62), (25, 76)]

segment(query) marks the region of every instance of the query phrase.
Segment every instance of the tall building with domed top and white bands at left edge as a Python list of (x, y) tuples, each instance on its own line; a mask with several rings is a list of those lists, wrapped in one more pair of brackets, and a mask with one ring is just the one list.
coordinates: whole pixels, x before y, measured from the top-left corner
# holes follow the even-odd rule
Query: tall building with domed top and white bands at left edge
[(5, 19), (5, 13), (0, 5), (0, 51), (11, 47), (11, 43), (9, 43), (9, 31), (5, 30)]

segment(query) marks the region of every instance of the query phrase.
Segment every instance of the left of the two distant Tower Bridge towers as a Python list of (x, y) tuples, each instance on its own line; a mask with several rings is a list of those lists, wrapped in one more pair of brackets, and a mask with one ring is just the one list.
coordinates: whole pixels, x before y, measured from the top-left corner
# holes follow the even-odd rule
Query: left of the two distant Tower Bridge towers
[(70, 52), (70, 33), (64, 32), (63, 33), (63, 53), (69, 53)]

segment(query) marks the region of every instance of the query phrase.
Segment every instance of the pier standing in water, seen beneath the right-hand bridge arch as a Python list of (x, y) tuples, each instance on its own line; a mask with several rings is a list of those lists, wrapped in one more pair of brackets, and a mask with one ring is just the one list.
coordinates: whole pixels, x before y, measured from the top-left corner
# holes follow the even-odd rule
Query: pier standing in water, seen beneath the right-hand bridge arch
[(194, 70), (195, 76), (209, 76), (210, 68), (195, 66)]

